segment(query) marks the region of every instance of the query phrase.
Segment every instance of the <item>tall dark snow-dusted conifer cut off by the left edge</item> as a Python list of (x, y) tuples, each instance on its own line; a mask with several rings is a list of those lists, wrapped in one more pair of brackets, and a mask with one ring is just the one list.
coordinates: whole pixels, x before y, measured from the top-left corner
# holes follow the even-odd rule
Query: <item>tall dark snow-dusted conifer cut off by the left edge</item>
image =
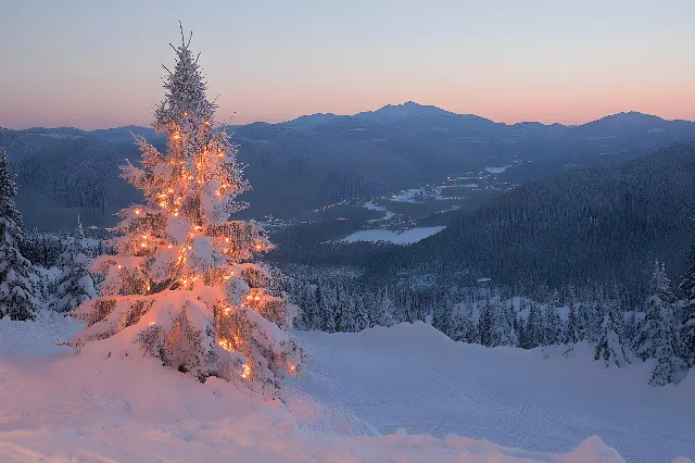
[(29, 279), (31, 264), (22, 256), (22, 214), (14, 204), (17, 187), (0, 151), (0, 318), (34, 320), (35, 298)]

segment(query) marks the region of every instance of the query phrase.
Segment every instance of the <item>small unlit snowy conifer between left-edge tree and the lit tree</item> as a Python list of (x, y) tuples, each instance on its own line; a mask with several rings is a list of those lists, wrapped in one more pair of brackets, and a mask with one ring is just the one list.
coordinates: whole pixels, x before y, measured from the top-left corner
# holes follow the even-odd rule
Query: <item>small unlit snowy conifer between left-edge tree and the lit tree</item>
[(89, 273), (89, 258), (86, 254), (85, 232), (77, 218), (75, 236), (59, 258), (61, 276), (58, 279), (58, 295), (53, 309), (68, 312), (83, 302), (97, 297), (94, 280)]

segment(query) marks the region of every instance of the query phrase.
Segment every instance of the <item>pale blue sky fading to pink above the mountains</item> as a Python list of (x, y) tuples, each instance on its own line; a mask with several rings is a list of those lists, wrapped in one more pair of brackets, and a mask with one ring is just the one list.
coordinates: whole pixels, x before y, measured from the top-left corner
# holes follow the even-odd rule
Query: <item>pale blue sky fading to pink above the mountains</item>
[(408, 100), (507, 123), (695, 120), (695, 0), (0, 3), (1, 127), (149, 125), (179, 20), (235, 124)]

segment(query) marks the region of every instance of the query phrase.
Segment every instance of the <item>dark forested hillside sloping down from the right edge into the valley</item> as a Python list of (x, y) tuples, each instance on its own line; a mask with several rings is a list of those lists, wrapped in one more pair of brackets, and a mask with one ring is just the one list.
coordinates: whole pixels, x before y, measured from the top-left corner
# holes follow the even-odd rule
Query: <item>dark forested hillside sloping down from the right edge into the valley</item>
[(431, 238), (374, 262), (372, 272), (458, 275), (469, 283), (480, 276), (551, 286), (617, 281), (634, 289), (646, 285), (658, 259), (675, 278), (690, 249), (694, 176), (692, 143), (560, 173), (459, 215)]

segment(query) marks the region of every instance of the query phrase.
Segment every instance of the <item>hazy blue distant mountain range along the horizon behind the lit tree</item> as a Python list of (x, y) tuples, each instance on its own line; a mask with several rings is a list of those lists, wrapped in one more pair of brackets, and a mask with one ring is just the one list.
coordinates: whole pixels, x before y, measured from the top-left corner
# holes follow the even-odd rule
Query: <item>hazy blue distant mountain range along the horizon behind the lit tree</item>
[[(372, 197), (514, 165), (505, 179), (527, 184), (583, 165), (632, 159), (675, 141), (695, 140), (695, 123), (620, 113), (580, 125), (503, 124), (407, 102), (355, 115), (313, 114), (279, 123), (228, 127), (254, 189), (248, 216), (290, 216), (348, 197)], [(0, 129), (18, 175), (29, 226), (67, 226), (78, 211), (96, 224), (138, 198), (118, 178), (139, 159), (132, 135), (164, 149), (148, 127)], [(67, 213), (72, 212), (72, 213)], [(63, 223), (65, 222), (65, 223)]]

